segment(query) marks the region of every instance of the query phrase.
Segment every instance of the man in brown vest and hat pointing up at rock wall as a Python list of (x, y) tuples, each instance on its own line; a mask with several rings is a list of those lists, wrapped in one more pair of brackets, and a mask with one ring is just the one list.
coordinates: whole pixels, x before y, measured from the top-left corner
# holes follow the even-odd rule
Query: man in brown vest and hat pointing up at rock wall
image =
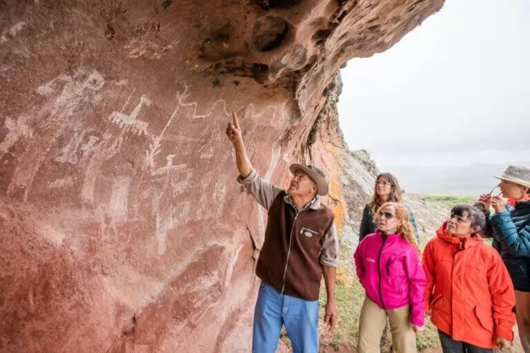
[(333, 211), (320, 203), (328, 193), (324, 173), (313, 165), (292, 164), (287, 190), (268, 183), (246, 155), (233, 114), (226, 135), (235, 148), (239, 177), (268, 211), (265, 240), (257, 261), (262, 279), (254, 314), (253, 353), (274, 353), (284, 325), (294, 353), (318, 352), (318, 298), (322, 275), (328, 302), (324, 322), (335, 327), (335, 271), (338, 240)]

